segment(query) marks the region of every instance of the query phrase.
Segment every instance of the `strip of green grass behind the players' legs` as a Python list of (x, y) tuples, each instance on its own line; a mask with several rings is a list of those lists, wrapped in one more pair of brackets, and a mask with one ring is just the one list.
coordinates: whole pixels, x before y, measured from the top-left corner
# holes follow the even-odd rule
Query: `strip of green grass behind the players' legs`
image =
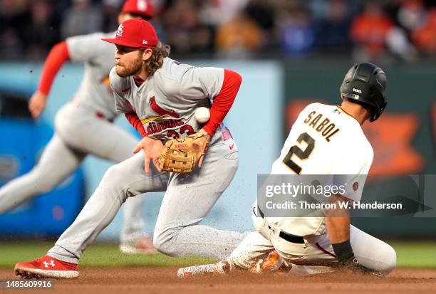
[[(389, 242), (397, 251), (399, 268), (436, 268), (436, 242)], [(0, 242), (0, 268), (13, 268), (19, 261), (43, 256), (53, 242)], [(173, 258), (162, 254), (152, 256), (125, 255), (118, 245), (96, 243), (81, 258), (81, 266), (192, 266), (211, 263), (208, 258)]]

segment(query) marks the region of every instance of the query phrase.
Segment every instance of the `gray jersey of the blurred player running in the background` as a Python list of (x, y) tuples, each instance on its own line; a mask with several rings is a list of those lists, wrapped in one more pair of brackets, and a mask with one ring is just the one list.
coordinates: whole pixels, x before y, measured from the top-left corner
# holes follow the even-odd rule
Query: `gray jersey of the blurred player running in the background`
[(91, 33), (67, 38), (71, 61), (83, 62), (84, 72), (81, 85), (74, 99), (81, 105), (101, 112), (107, 119), (115, 117), (113, 94), (109, 85), (109, 73), (115, 63), (115, 46), (101, 41), (113, 38), (112, 33)]

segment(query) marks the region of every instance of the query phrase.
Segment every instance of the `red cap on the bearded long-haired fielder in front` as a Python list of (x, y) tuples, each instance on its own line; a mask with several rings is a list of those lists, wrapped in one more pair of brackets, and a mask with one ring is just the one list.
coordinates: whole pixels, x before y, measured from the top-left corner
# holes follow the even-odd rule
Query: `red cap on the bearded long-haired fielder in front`
[(158, 42), (155, 28), (143, 19), (124, 21), (118, 26), (115, 38), (102, 38), (102, 40), (115, 45), (139, 49), (155, 48)]

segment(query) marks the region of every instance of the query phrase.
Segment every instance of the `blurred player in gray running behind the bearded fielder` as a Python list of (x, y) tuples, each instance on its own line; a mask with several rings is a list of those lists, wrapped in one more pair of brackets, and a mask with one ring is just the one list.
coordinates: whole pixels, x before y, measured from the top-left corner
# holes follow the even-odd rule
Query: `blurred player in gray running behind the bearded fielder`
[[(119, 21), (142, 17), (150, 19), (152, 6), (145, 0), (128, 0)], [(35, 167), (0, 189), (0, 214), (51, 191), (70, 175), (88, 154), (113, 162), (133, 155), (137, 139), (112, 124), (117, 116), (109, 72), (113, 67), (113, 46), (101, 41), (113, 33), (92, 33), (67, 38), (53, 47), (43, 67), (41, 83), (29, 101), (33, 117), (46, 106), (56, 73), (68, 60), (85, 64), (80, 88), (73, 100), (58, 111), (55, 134)], [(141, 219), (141, 197), (125, 204), (120, 250), (125, 253), (156, 253), (152, 239), (145, 236)]]

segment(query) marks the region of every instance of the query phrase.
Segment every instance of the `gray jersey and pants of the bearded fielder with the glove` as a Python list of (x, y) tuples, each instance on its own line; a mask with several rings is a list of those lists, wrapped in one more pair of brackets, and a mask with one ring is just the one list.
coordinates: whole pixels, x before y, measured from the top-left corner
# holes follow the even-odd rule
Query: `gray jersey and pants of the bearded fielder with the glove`
[[(117, 110), (135, 112), (147, 136), (160, 140), (197, 132), (201, 126), (194, 120), (194, 108), (210, 103), (223, 81), (222, 68), (195, 68), (170, 58), (139, 87), (132, 77), (110, 72)], [(202, 167), (189, 174), (161, 173), (153, 164), (145, 173), (144, 160), (144, 152), (138, 152), (108, 169), (81, 214), (48, 254), (77, 263), (128, 197), (152, 191), (165, 191), (153, 234), (160, 252), (225, 258), (242, 241), (244, 234), (199, 224), (237, 172), (239, 152), (228, 130), (218, 128)]]

